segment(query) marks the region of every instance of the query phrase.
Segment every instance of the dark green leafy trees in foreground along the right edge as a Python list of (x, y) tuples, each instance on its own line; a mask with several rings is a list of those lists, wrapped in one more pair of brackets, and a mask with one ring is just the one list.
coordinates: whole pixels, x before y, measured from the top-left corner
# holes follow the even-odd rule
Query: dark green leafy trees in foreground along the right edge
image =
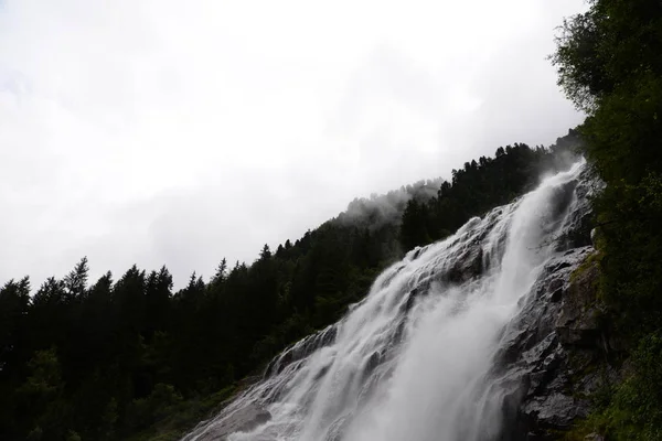
[(607, 183), (594, 204), (598, 300), (623, 349), (622, 380), (584, 427), (662, 440), (662, 2), (592, 0), (562, 31), (559, 85), (588, 115), (585, 152)]

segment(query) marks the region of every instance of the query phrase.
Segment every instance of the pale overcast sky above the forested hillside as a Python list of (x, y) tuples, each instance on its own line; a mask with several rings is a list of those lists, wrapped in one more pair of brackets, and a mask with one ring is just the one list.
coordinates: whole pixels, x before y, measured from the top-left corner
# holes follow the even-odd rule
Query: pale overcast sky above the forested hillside
[(0, 0), (0, 282), (181, 286), (580, 122), (545, 60), (583, 0)]

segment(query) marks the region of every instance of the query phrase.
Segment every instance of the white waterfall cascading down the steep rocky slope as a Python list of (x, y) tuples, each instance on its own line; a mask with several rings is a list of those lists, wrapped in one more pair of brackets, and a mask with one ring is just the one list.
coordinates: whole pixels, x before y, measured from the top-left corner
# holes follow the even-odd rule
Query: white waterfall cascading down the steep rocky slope
[(583, 163), (385, 270), (184, 440), (471, 441), (500, 434), (500, 338), (581, 204)]

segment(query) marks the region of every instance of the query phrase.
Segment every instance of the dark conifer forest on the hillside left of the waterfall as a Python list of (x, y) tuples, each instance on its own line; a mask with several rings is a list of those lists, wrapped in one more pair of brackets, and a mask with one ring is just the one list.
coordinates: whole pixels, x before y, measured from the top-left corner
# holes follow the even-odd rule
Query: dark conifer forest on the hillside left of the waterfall
[[(252, 265), (225, 259), (173, 292), (166, 267), (88, 283), (82, 259), (33, 290), (0, 289), (0, 439), (170, 439), (286, 345), (338, 320), (388, 263), (439, 239), (568, 165), (577, 133), (548, 149), (514, 144), (452, 172), (356, 200), (348, 212), (265, 246)], [(221, 392), (217, 392), (220, 391)]]

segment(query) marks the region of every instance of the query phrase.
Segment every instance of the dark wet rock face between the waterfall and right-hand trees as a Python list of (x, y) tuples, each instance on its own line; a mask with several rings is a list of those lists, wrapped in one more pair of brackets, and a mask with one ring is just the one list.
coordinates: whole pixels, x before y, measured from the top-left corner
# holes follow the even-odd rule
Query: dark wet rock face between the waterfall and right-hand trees
[(552, 260), (504, 333), (495, 374), (513, 386), (503, 441), (559, 439), (588, 416), (589, 395), (617, 375), (606, 363), (613, 349), (600, 323), (594, 254), (586, 246)]

